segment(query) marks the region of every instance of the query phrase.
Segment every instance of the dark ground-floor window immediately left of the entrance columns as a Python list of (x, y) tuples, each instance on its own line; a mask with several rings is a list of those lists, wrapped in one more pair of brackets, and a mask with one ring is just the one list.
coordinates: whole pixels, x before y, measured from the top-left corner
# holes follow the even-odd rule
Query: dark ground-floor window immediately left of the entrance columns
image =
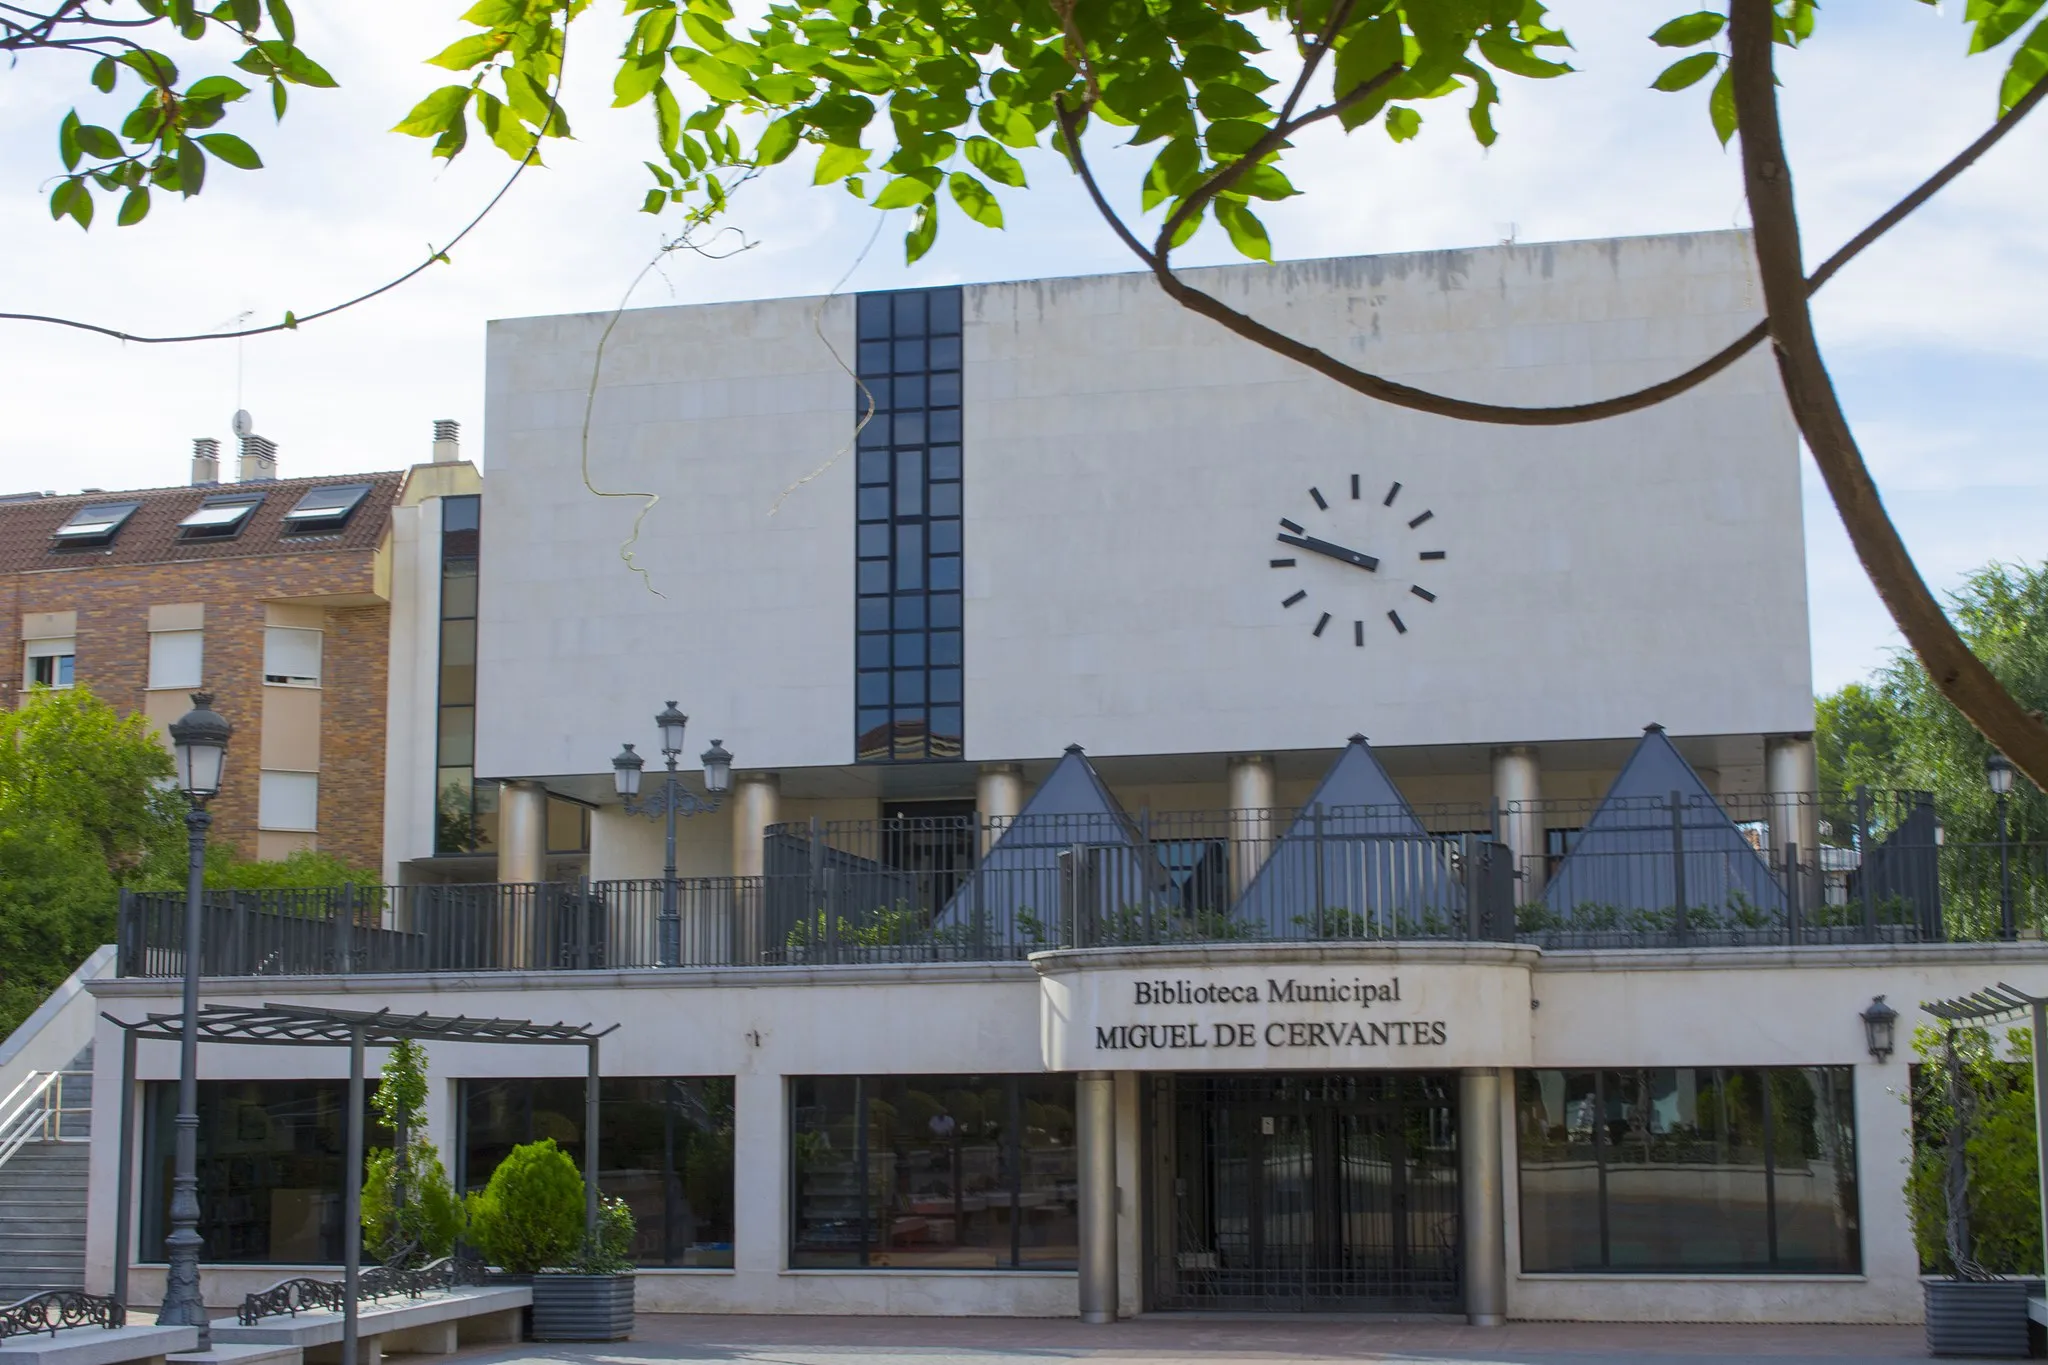
[(1071, 1076), (791, 1081), (791, 1267), (1071, 1269)]

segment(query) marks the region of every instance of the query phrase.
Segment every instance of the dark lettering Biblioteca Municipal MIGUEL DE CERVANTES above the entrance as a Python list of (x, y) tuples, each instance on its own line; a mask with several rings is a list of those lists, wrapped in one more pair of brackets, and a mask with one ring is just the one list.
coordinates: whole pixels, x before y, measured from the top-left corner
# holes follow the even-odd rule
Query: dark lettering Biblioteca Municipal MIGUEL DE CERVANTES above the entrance
[[(1130, 1005), (1174, 1013), (1171, 1019), (1098, 1023), (1098, 1052), (1198, 1052), (1204, 1048), (1440, 1048), (1448, 1042), (1444, 1019), (1417, 1019), (1401, 1001), (1401, 978), (1303, 980), (1264, 976), (1223, 982), (1135, 980)], [(1378, 1011), (1354, 1019), (1233, 1019), (1217, 1017), (1229, 1005), (1350, 1005)]]

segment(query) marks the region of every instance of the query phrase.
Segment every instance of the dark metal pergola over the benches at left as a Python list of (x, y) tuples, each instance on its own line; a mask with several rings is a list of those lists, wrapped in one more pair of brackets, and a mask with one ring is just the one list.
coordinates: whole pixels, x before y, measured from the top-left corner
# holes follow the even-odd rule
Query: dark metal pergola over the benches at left
[[(115, 1019), (121, 1029), (121, 1181), (115, 1222), (115, 1302), (127, 1304), (129, 1214), (135, 1199), (135, 1044), (182, 1042), (178, 1015)], [(342, 1365), (356, 1365), (356, 1285), (362, 1275), (362, 1052), (397, 1042), (528, 1044), (584, 1048), (584, 1226), (598, 1228), (598, 1042), (616, 1029), (530, 1019), (469, 1019), (465, 1015), (399, 1015), (389, 1009), (309, 1009), (305, 1005), (207, 1005), (199, 1011), (201, 1044), (268, 1044), (283, 1048), (348, 1048), (348, 1154), (342, 1183)]]

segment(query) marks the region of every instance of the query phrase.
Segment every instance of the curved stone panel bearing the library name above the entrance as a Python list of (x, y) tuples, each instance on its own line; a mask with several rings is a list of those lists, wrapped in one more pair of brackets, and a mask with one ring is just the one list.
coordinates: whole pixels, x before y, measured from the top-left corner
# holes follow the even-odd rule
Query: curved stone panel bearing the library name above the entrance
[(1049, 1070), (1530, 1064), (1532, 950), (1227, 945), (1034, 958)]

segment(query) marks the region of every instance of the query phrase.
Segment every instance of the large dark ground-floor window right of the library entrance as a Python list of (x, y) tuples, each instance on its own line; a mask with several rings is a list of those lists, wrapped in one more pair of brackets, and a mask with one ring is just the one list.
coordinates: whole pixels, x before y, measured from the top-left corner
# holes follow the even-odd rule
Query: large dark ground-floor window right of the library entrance
[(1849, 1074), (1522, 1072), (1522, 1269), (1858, 1273)]

